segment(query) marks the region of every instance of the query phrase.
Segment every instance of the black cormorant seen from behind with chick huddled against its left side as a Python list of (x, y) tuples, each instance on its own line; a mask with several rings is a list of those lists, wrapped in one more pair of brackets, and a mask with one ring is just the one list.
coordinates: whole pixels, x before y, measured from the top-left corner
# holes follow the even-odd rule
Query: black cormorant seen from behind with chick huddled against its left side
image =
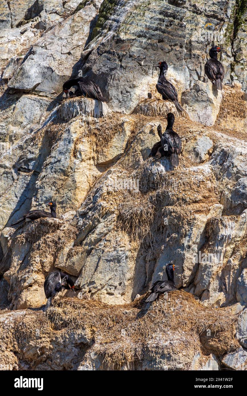
[[(161, 138), (161, 148), (157, 150), (156, 158), (160, 158), (161, 156), (170, 156), (170, 161), (172, 166), (178, 166), (179, 159), (178, 155), (182, 150), (182, 142), (179, 135), (172, 129), (175, 121), (175, 117), (172, 113), (167, 114), (167, 128), (162, 135), (161, 124), (159, 124), (157, 131), (159, 133), (159, 137)], [(164, 154), (165, 152), (165, 154)]]

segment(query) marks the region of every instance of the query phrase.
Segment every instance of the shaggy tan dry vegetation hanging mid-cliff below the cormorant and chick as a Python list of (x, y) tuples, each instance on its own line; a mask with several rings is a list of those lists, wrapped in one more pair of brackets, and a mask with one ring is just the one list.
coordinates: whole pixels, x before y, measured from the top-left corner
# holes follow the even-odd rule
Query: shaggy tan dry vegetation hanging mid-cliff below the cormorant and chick
[[(135, 240), (141, 241), (147, 234), (154, 235), (152, 228), (157, 230), (157, 235), (159, 230), (162, 231), (159, 238), (164, 232), (168, 236), (176, 231), (181, 242), (190, 227), (191, 217), (195, 213), (209, 212), (211, 206), (218, 203), (214, 177), (200, 167), (152, 173), (150, 164), (151, 161), (147, 160), (133, 173), (134, 178), (139, 178), (138, 194), (131, 191), (119, 194), (119, 221), (124, 231)], [(176, 213), (173, 214), (178, 221), (169, 221), (169, 227), (160, 227), (161, 219), (175, 206)], [(163, 213), (162, 208), (165, 208)], [(181, 233), (181, 229), (184, 232)]]

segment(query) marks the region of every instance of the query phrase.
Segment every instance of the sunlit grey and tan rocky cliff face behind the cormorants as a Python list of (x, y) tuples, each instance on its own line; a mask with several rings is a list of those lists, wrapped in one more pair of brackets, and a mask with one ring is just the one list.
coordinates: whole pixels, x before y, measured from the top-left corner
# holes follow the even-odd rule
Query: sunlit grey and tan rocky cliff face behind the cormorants
[[(0, 15), (4, 364), (245, 369), (245, 2), (0, 0)], [(204, 64), (218, 43), (217, 93)], [(160, 60), (188, 114), (161, 101)], [(108, 103), (63, 100), (78, 74)], [(170, 111), (182, 138), (175, 169), (149, 158)], [(11, 227), (51, 199), (57, 219)], [(142, 296), (170, 261), (182, 291), (147, 307)], [(77, 297), (44, 314), (54, 268), (72, 276)]]

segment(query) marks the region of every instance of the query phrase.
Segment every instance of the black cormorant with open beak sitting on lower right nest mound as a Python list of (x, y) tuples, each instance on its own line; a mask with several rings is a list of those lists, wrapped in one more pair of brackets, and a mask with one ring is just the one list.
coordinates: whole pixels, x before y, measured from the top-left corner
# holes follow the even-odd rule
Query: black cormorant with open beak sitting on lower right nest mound
[(174, 270), (176, 267), (174, 264), (169, 263), (166, 267), (167, 279), (168, 280), (158, 280), (154, 282), (151, 286), (151, 294), (145, 300), (146, 303), (151, 303), (155, 301), (159, 294), (165, 293), (166, 291), (176, 290), (176, 286), (174, 284)]

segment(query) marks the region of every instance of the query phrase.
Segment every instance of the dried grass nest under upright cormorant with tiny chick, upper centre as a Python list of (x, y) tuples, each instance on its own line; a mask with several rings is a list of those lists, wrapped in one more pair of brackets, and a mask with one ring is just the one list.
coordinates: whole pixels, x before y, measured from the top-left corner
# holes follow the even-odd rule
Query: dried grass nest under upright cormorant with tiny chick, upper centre
[(175, 117), (189, 119), (188, 114), (185, 111), (178, 111), (174, 103), (159, 99), (144, 99), (133, 110), (133, 114), (143, 114), (148, 117), (166, 118), (168, 113), (173, 113)]

